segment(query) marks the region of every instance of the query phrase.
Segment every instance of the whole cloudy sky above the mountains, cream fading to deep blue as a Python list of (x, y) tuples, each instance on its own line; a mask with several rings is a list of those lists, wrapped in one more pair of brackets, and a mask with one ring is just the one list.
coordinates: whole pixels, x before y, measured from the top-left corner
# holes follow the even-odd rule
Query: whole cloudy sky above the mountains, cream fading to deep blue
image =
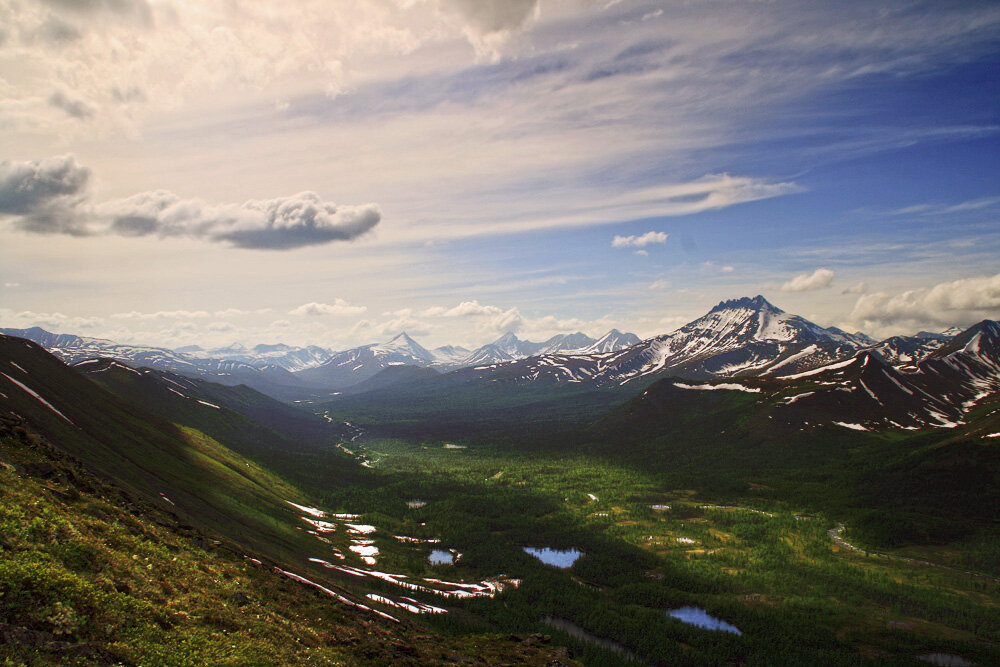
[(0, 326), (1000, 318), (1000, 4), (0, 0)]

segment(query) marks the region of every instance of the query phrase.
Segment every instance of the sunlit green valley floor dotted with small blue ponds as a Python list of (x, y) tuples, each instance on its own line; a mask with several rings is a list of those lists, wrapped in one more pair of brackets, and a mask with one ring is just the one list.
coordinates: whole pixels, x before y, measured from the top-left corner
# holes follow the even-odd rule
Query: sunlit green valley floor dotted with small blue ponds
[[(485, 620), (505, 632), (545, 631), (588, 664), (625, 659), (546, 626), (546, 617), (656, 664), (926, 664), (916, 658), (930, 652), (1000, 660), (996, 582), (838, 547), (827, 535), (835, 517), (804, 516), (765, 487), (745, 491), (742, 507), (713, 508), (711, 495), (664, 484), (653, 466), (640, 472), (595, 456), (442, 444), (367, 441), (378, 477), (368, 490), (329, 491), (324, 506), (364, 509), (366, 521), (392, 531), (442, 538), (462, 553), (456, 565), (436, 567), (450, 577), (503, 572), (523, 580), (502, 605), (476, 600), (431, 619), (443, 630)], [(427, 505), (411, 509), (411, 499)], [(386, 546), (380, 568), (435, 569), (412, 548)], [(586, 555), (561, 571), (524, 546)], [(684, 605), (744, 634), (666, 616)]]

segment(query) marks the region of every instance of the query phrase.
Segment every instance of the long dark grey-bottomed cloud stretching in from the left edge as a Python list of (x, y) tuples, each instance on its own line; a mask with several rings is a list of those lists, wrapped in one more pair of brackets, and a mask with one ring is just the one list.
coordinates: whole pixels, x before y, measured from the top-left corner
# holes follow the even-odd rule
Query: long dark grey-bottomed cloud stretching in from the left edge
[(382, 219), (375, 204), (338, 206), (314, 192), (209, 204), (157, 190), (91, 206), (90, 170), (71, 155), (0, 163), (0, 216), (33, 233), (188, 237), (238, 248), (288, 250), (350, 241)]

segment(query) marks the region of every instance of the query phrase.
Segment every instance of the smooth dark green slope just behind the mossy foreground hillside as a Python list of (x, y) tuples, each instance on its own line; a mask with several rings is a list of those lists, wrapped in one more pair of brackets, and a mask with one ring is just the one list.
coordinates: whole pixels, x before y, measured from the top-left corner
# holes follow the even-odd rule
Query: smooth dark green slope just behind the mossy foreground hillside
[(101, 389), (38, 345), (0, 337), (0, 414), (27, 420), (67, 454), (184, 521), (258, 545), (299, 551), (286, 500), (302, 494), (201, 431)]

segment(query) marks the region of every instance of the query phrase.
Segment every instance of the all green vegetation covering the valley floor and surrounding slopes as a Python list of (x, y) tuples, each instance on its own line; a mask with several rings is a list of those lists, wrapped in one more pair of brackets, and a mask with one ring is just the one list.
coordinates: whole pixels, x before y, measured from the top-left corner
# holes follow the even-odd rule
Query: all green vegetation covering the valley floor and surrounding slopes
[[(20, 466), (0, 480), (0, 623), (4, 636), (23, 631), (17, 661), (86, 663), (101, 651), (141, 664), (556, 655), (531, 645), (544, 637), (512, 647), (483, 634), (500, 633), (551, 635), (586, 664), (903, 665), (926, 664), (928, 653), (1000, 663), (997, 581), (903, 560), (1000, 574), (1000, 442), (976, 436), (1000, 431), (995, 403), (954, 431), (860, 433), (803, 431), (757, 395), (671, 383), (624, 403), (623, 390), (453, 387), (396, 405), (352, 397), (321, 419), (239, 387), (203, 383), (177, 396), (129, 370), (99, 375), (105, 391), (37, 348), (0, 345), (63, 413), (9, 392), (11, 410), (59, 447), (14, 431), (3, 440)], [(363, 435), (341, 443), (342, 433)], [(54, 469), (31, 471), (52, 456), (62, 457)], [(286, 501), (360, 516), (310, 533)], [(361, 530), (380, 572), (519, 585), (497, 598), (443, 597), (310, 562), (372, 567), (351, 552), (361, 530), (346, 521), (375, 527)], [(861, 550), (831, 539), (840, 523)], [(529, 546), (584, 555), (560, 570)], [(432, 565), (432, 548), (460, 555)], [(447, 613), (385, 607), (421, 626), (376, 621), (245, 553), (354, 600), (406, 595)], [(205, 604), (194, 598), (202, 588)], [(267, 600), (264, 611), (244, 618), (241, 591)], [(692, 605), (743, 634), (667, 615)], [(358, 627), (386, 638), (358, 641)]]

